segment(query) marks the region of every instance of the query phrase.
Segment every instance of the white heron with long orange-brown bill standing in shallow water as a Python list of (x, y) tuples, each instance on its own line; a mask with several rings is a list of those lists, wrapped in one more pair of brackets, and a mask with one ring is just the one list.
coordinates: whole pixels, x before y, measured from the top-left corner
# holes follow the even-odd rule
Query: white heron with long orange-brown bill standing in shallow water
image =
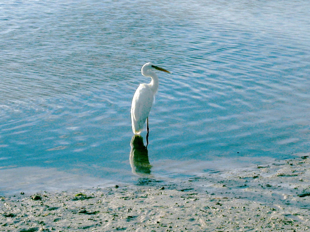
[[(143, 130), (145, 120), (148, 125), (148, 114), (154, 101), (155, 94), (158, 90), (158, 77), (154, 70), (168, 72), (163, 68), (159, 68), (153, 63), (146, 63), (141, 68), (141, 73), (144, 77), (151, 77), (152, 81), (149, 84), (140, 84), (131, 102), (131, 127), (134, 134), (140, 134)], [(170, 73), (170, 72), (169, 72)], [(148, 126), (147, 126), (148, 130)], [(148, 134), (147, 134), (148, 140)]]

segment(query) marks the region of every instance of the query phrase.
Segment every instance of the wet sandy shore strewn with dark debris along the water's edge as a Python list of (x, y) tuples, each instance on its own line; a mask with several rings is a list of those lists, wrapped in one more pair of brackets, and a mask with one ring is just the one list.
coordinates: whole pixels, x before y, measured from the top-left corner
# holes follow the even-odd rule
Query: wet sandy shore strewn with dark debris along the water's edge
[(0, 231), (310, 231), (310, 158), (176, 182), (0, 197)]

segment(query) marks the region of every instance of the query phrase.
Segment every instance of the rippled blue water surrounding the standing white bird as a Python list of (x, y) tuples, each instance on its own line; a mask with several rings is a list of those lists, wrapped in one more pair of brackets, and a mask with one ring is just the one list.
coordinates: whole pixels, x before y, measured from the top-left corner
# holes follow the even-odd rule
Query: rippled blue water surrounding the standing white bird
[(149, 61), (173, 73), (158, 73), (149, 116), (152, 178), (308, 152), (309, 12), (307, 1), (0, 3), (0, 188), (43, 173), (136, 182), (130, 154), (145, 150), (131, 148), (130, 105)]

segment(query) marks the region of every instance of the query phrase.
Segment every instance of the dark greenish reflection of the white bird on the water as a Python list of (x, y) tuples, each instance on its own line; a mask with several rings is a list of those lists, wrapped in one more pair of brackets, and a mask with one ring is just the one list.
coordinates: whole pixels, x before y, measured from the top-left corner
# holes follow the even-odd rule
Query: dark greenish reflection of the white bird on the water
[(142, 177), (149, 176), (152, 165), (148, 161), (148, 149), (144, 146), (143, 138), (135, 134), (131, 139), (130, 146), (129, 161), (132, 173)]

